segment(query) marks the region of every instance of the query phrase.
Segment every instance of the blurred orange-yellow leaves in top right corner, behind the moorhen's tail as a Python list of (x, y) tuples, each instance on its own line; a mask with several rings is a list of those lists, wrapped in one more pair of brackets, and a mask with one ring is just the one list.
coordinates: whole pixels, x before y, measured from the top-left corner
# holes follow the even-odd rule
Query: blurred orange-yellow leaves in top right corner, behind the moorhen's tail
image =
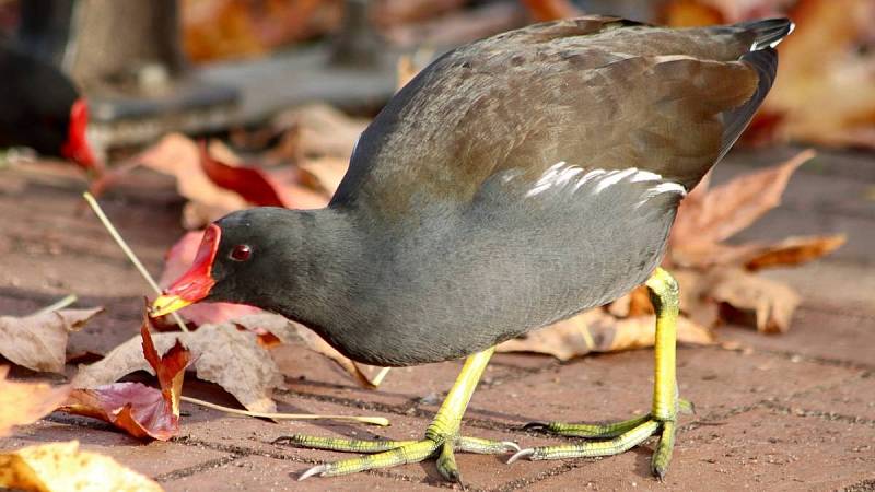
[(781, 116), (778, 137), (875, 147), (875, 55), (860, 49), (875, 35), (875, 2), (800, 0), (789, 15), (797, 28), (763, 105)]

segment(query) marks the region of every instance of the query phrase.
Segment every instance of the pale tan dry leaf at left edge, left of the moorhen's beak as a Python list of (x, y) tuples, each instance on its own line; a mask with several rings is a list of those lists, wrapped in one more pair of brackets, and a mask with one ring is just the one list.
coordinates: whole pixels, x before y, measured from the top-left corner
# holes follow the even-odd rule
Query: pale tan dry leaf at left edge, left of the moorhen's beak
[(67, 340), (103, 307), (0, 316), (0, 355), (33, 371), (63, 373)]

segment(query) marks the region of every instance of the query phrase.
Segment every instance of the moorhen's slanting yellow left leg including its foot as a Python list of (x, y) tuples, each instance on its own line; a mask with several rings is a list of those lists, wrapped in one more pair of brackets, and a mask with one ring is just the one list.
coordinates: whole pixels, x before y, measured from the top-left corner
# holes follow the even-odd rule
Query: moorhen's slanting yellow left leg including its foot
[[(338, 475), (354, 473), (373, 468), (385, 468), (408, 462), (422, 461), (427, 458), (438, 458), (438, 471), (452, 481), (459, 481), (460, 476), (454, 450), (503, 454), (520, 450), (511, 442), (489, 441), (459, 435), (462, 415), (468, 408), (468, 402), (474, 395), (474, 389), (483, 374), (494, 348), (476, 353), (465, 361), (456, 384), (450, 390), (434, 420), (425, 429), (425, 437), (421, 441), (362, 441), (336, 437), (314, 437), (292, 435), (281, 437), (284, 443), (295, 446), (330, 449), (351, 453), (376, 453), (358, 458), (319, 465), (305, 471), (299, 480), (304, 480), (314, 475), (334, 477)], [(279, 440), (278, 440), (279, 441)]]

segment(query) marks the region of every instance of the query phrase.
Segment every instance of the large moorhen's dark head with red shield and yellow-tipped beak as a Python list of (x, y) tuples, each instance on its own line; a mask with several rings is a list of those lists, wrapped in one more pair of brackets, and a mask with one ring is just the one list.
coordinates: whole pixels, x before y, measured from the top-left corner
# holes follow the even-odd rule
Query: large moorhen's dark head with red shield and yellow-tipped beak
[(295, 218), (288, 210), (262, 207), (210, 224), (195, 262), (152, 303), (151, 315), (201, 301), (270, 308), (277, 279), (282, 279), (284, 290), (294, 288), (293, 276), (284, 274), (292, 267), (285, 257), (295, 241), (290, 219)]

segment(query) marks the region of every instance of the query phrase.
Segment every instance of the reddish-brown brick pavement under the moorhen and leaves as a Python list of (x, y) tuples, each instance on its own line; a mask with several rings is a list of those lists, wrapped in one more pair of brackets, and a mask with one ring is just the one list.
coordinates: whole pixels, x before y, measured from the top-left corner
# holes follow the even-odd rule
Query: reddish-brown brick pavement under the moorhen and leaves
[[(779, 151), (786, 152), (786, 151)], [(755, 159), (756, 157), (756, 159)], [(716, 180), (745, 171), (759, 154), (735, 155)], [(774, 271), (804, 294), (792, 329), (762, 336), (723, 327), (720, 347), (678, 353), (681, 393), (697, 403), (685, 417), (666, 483), (650, 477), (652, 443), (606, 459), (503, 464), (495, 456), (458, 455), (469, 490), (875, 490), (875, 184), (870, 157), (833, 154), (793, 178), (784, 204), (745, 238), (847, 232), (849, 244), (828, 260)], [(24, 314), (77, 292), (108, 313), (75, 333), (77, 350), (105, 351), (138, 326), (137, 273), (78, 200), (79, 184), (62, 167), (2, 172), (0, 179), (0, 313)], [(862, 177), (862, 178), (861, 178)], [(107, 213), (156, 271), (180, 233), (171, 184), (143, 175), (104, 200)], [(12, 221), (9, 218), (14, 216)], [(70, 261), (75, 257), (77, 261)], [(475, 394), (463, 430), (525, 445), (561, 442), (527, 433), (528, 420), (604, 420), (646, 411), (652, 385), (649, 350), (559, 363), (500, 354)], [(93, 420), (52, 414), (0, 440), (0, 448), (77, 438), (137, 469), (171, 491), (433, 490), (431, 462), (337, 479), (295, 482), (313, 464), (343, 456), (271, 442), (290, 433), (417, 437), (452, 384), (458, 363), (394, 371), (380, 391), (358, 388), (320, 356), (284, 350), (281, 411), (375, 413), (393, 426), (269, 423), (183, 403), (182, 434), (143, 444)], [(27, 376), (18, 372), (19, 375)], [(206, 384), (187, 390), (226, 403)]]

